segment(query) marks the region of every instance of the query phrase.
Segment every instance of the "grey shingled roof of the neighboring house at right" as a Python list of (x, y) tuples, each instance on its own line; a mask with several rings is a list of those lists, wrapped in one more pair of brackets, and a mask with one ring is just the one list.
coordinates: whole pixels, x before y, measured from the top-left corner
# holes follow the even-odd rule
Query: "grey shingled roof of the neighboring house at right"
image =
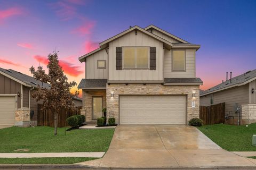
[(246, 73), (243, 73), (241, 75), (238, 75), (237, 77), (232, 78), (231, 83), (230, 83), (230, 80), (228, 80), (208, 90), (205, 90), (204, 92), (202, 92), (200, 96), (209, 95), (209, 94), (212, 94), (213, 92), (229, 89), (232, 87), (243, 86), (244, 84), (247, 84), (255, 79), (256, 79), (256, 69), (252, 71), (247, 71)]

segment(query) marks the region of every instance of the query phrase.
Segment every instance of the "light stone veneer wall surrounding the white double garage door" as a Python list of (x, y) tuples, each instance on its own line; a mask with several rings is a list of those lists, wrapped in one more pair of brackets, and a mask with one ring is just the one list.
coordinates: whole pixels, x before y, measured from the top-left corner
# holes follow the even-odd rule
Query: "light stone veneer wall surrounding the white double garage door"
[[(111, 92), (114, 97), (111, 98)], [(193, 99), (193, 92), (196, 98)], [(119, 123), (119, 95), (187, 95), (187, 121), (199, 118), (199, 86), (163, 86), (162, 84), (107, 84), (107, 118), (115, 117)], [(191, 103), (195, 101), (196, 107)]]

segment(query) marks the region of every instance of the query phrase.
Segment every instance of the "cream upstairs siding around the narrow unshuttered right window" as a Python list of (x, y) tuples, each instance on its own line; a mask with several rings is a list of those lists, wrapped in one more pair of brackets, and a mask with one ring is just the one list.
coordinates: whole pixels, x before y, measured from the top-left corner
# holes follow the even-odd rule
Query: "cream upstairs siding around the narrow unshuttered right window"
[[(176, 50), (176, 49), (175, 49)], [(177, 49), (178, 50), (178, 49)], [(195, 54), (196, 49), (184, 49), (186, 50), (186, 71), (185, 72), (173, 72), (172, 71), (172, 50), (164, 50), (164, 78), (195, 78)]]

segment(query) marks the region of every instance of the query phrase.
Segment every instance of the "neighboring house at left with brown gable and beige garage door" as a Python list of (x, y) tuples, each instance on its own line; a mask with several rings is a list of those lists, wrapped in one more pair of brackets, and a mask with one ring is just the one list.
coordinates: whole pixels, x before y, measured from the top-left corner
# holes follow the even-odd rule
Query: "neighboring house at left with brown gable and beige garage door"
[[(42, 101), (31, 97), (31, 92), (38, 85), (51, 87), (21, 72), (0, 67), (0, 125), (27, 127), (30, 121), (32, 125), (37, 125), (38, 104), (42, 104)], [(81, 99), (74, 98), (73, 101), (76, 106), (82, 106)], [(31, 120), (30, 113), (34, 113)]]

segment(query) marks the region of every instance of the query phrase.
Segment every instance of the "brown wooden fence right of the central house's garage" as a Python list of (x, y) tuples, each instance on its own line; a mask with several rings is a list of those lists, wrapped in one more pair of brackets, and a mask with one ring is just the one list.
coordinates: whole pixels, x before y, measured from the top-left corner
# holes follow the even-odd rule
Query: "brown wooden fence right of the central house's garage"
[(225, 123), (225, 103), (200, 106), (199, 117), (204, 121), (204, 125)]

